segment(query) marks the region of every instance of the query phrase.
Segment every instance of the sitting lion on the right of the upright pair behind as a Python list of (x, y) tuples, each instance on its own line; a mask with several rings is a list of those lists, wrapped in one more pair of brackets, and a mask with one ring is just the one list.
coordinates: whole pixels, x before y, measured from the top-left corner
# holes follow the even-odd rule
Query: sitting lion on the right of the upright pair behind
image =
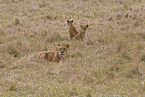
[(81, 25), (81, 31), (72, 40), (77, 39), (83, 41), (88, 27), (89, 25)]

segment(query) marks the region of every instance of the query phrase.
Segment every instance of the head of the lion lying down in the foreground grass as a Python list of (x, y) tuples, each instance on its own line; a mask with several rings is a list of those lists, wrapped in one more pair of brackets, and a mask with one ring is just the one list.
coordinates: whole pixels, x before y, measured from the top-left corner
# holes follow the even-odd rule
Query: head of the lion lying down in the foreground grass
[(61, 57), (66, 57), (67, 56), (67, 50), (69, 48), (68, 44), (58, 44), (58, 52), (60, 54)]

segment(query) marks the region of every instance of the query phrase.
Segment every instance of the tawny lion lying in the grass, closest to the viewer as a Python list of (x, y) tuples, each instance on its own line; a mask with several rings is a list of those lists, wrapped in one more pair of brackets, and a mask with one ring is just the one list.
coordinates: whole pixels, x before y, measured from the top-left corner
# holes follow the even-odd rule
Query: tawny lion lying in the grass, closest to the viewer
[(57, 51), (43, 51), (40, 52), (39, 58), (46, 59), (48, 62), (59, 62), (60, 60), (65, 59), (68, 54), (67, 50), (69, 48), (68, 44), (58, 44)]

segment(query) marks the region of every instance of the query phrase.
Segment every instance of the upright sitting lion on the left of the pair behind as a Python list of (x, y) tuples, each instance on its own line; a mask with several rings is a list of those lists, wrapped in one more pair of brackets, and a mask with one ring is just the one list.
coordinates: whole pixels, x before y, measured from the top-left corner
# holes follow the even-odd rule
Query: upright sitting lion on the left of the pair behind
[(73, 26), (73, 20), (67, 20), (67, 24), (69, 26), (69, 36), (70, 39), (72, 40), (78, 34), (78, 31)]

